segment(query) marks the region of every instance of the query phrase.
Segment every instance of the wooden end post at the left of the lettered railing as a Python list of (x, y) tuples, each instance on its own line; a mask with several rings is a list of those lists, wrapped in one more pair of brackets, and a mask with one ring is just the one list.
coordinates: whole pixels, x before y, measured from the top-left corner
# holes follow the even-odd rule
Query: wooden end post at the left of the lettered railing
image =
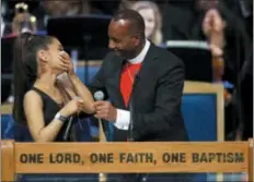
[(14, 181), (14, 142), (1, 141), (1, 181)]

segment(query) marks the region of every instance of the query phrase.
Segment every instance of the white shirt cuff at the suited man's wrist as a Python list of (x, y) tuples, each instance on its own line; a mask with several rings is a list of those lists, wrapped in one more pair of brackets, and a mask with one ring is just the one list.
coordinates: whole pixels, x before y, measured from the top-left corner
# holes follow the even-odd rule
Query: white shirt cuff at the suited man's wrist
[(130, 113), (127, 110), (116, 109), (116, 122), (114, 125), (119, 130), (129, 129)]

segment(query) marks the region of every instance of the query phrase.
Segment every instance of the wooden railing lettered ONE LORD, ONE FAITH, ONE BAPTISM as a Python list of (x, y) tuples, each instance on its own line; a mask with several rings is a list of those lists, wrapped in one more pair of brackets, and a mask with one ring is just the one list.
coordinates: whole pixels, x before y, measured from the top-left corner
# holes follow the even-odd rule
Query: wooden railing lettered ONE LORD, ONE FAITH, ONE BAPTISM
[[(253, 142), (14, 143), (1, 141), (2, 181), (15, 173), (247, 172)], [(154, 168), (155, 167), (155, 168)]]

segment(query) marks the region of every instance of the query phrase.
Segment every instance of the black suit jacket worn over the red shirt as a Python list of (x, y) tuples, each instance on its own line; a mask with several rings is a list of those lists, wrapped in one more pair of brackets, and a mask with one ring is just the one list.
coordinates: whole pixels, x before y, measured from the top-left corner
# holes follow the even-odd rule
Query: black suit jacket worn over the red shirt
[[(109, 52), (91, 84), (91, 90), (103, 90), (115, 108), (128, 110), (119, 89), (125, 63), (124, 59)], [(183, 62), (151, 44), (138, 77), (131, 94), (135, 141), (187, 141), (181, 114)], [(126, 141), (127, 134), (127, 131), (114, 128), (114, 141)]]

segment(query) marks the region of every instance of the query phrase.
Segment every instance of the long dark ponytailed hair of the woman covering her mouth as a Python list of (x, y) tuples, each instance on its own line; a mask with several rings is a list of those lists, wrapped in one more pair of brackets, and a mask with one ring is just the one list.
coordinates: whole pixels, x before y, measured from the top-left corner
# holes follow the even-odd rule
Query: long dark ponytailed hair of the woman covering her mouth
[(16, 122), (26, 124), (24, 118), (24, 95), (32, 88), (37, 77), (37, 51), (47, 50), (53, 37), (21, 34), (13, 46), (14, 49), (14, 105), (13, 118)]

